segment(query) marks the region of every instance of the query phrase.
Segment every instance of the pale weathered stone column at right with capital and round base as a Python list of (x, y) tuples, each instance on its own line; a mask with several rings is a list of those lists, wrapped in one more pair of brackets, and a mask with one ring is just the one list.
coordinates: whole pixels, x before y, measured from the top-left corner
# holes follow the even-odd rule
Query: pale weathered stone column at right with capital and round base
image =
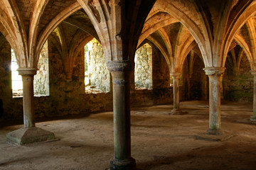
[(221, 135), (220, 130), (220, 76), (225, 68), (208, 67), (204, 69), (209, 77), (209, 135)]

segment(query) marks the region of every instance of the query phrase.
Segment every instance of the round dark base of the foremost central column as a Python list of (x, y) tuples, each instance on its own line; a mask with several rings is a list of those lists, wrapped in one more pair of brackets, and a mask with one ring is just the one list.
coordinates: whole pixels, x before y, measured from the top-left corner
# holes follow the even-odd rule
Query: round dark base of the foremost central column
[(135, 170), (136, 163), (135, 159), (125, 159), (125, 160), (110, 160), (110, 170)]

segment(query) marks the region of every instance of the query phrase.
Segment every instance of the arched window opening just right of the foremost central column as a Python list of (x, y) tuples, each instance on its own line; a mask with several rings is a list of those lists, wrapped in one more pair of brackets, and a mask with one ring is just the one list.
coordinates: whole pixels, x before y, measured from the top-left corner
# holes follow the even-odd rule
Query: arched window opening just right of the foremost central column
[(135, 53), (134, 83), (136, 89), (152, 89), (152, 47), (146, 43)]

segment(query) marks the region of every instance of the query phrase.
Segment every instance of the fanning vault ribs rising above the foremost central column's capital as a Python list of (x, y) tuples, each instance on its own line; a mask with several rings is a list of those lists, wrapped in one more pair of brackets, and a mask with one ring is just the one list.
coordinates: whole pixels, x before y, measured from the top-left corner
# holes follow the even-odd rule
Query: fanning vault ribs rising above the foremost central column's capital
[(107, 62), (126, 61), (134, 65), (137, 40), (155, 0), (125, 1), (123, 4), (102, 0), (78, 2), (95, 26)]

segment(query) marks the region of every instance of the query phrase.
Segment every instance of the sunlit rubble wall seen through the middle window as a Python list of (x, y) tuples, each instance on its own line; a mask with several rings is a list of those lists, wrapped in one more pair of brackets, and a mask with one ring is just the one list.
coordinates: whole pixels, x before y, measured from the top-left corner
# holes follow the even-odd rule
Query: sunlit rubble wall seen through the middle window
[[(88, 74), (90, 79), (90, 89), (100, 89), (110, 91), (110, 72), (107, 69), (102, 45), (95, 38), (90, 42), (92, 47), (89, 54)], [(89, 89), (89, 88), (88, 88)]]

